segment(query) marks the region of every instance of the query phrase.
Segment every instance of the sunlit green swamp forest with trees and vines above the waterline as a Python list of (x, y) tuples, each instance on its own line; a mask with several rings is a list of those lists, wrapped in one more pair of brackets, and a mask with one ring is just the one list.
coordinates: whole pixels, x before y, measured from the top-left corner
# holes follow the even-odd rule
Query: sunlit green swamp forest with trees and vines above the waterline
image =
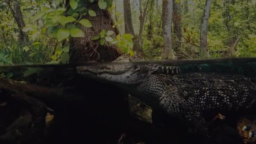
[(256, 56), (256, 0), (0, 0), (0, 64), (68, 63), (79, 48), (103, 61), (98, 47), (144, 59)]

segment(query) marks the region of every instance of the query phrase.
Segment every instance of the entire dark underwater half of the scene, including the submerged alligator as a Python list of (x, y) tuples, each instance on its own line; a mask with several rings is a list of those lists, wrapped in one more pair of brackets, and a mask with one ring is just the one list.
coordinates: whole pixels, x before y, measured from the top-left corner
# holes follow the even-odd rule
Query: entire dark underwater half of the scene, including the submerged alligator
[(254, 144), (256, 59), (0, 67), (1, 144)]

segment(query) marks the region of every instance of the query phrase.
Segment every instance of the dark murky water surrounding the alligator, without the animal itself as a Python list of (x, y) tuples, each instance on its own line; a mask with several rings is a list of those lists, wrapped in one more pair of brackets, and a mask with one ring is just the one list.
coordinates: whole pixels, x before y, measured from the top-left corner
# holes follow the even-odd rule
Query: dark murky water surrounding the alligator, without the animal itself
[[(254, 58), (236, 59), (235, 61), (218, 59), (215, 62), (214, 60), (210, 62), (198, 60), (187, 63), (184, 61), (176, 61), (176, 63), (165, 61), (164, 64), (179, 66), (181, 73), (218, 72), (256, 76), (256, 60)], [(95, 67), (97, 66), (95, 65)], [(177, 137), (175, 132), (168, 134), (170, 131), (159, 130), (152, 127), (151, 123), (144, 123), (131, 117), (130, 103), (127, 99), (128, 93), (124, 93), (112, 85), (88, 80), (77, 75), (74, 65), (0, 66), (0, 74), (11, 80), (23, 81), (29, 85), (36, 85), (36, 87), (50, 88), (53, 91), (59, 91), (62, 88), (62, 93), (65, 94), (63, 99), (54, 94), (40, 94), (40, 91), (37, 91), (38, 95), (27, 93), (28, 96), (40, 99), (47, 107), (54, 110), (52, 113), (54, 123), (48, 128), (49, 133), (43, 137), (45, 144), (63, 142), (117, 144), (122, 133), (126, 133), (126, 140), (128, 141), (122, 144), (133, 144), (132, 139), (150, 144), (165, 144), (172, 137), (173, 139)], [(27, 84), (20, 84), (20, 87)], [(28, 87), (30, 88), (30, 86)], [(6, 106), (0, 107), (1, 144), (14, 144), (14, 141), (22, 139), (21, 137), (26, 133), (25, 131), (21, 137), (14, 139), (13, 135), (17, 135), (11, 133), (14, 129), (27, 129), (24, 126), (27, 124), (26, 122), (23, 123), (23, 126), (16, 124), (17, 128), (10, 128), (10, 125), (13, 126), (18, 118), (27, 115), (28, 109), (19, 100), (11, 98), (8, 91), (3, 88), (3, 82), (0, 81), (0, 104), (7, 102)], [(215, 132), (214, 136), (216, 136), (213, 143), (227, 143), (227, 139), (229, 142), (233, 140), (232, 143), (241, 143), (234, 128), (222, 126), (219, 129), (216, 127), (213, 131)], [(6, 140), (1, 136), (5, 136), (4, 138), (9, 136), (10, 138)], [(175, 140), (173, 140), (174, 142)], [(189, 140), (187, 143), (190, 143)]]

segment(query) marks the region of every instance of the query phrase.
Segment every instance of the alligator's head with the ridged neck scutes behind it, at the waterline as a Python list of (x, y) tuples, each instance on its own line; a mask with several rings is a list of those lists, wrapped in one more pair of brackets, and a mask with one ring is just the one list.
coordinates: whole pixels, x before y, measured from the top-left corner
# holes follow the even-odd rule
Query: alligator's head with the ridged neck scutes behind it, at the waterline
[(118, 85), (136, 85), (142, 83), (149, 75), (179, 74), (179, 67), (166, 67), (157, 64), (115, 64), (99, 67), (77, 67), (77, 72), (85, 77), (111, 82)]

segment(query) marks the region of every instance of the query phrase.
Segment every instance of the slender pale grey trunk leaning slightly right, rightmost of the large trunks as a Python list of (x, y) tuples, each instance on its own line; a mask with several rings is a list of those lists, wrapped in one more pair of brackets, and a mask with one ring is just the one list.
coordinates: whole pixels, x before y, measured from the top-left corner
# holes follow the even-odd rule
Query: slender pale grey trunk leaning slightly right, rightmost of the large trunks
[(207, 47), (207, 24), (210, 16), (211, 0), (206, 0), (205, 9), (203, 12), (203, 19), (200, 32), (200, 57), (209, 57), (209, 49)]

